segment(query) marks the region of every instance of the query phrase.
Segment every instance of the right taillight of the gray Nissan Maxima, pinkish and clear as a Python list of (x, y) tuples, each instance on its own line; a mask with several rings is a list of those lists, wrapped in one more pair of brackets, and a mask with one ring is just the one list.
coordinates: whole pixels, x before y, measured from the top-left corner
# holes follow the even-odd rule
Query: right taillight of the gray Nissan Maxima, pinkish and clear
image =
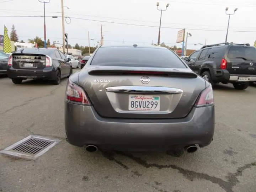
[(196, 107), (203, 107), (214, 104), (212, 85), (203, 90), (196, 101)]

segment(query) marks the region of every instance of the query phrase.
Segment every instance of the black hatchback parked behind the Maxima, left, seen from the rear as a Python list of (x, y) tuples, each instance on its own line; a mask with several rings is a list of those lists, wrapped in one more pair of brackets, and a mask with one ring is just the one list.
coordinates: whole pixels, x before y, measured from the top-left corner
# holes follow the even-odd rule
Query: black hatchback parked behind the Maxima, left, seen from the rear
[(73, 73), (69, 60), (58, 49), (20, 49), (11, 54), (7, 75), (15, 84), (25, 79), (48, 79), (58, 85), (61, 78)]

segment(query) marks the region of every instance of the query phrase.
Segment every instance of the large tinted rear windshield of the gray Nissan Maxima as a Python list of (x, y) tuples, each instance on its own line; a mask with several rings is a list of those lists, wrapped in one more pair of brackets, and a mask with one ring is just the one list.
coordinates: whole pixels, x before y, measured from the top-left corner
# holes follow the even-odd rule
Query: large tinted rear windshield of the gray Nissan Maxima
[(102, 47), (91, 65), (186, 68), (180, 58), (168, 49), (139, 47)]

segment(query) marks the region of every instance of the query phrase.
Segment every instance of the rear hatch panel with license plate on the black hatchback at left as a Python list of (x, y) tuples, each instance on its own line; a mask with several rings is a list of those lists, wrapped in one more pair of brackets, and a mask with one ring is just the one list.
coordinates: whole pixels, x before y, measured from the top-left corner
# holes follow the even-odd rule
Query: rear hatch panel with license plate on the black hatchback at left
[(12, 67), (14, 69), (43, 69), (46, 66), (44, 54), (12, 54)]

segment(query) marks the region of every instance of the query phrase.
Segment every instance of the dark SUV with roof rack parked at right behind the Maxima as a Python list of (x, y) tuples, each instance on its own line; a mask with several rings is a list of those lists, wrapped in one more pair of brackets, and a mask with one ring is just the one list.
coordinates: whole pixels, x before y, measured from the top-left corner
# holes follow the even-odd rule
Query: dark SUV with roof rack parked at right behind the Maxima
[(230, 82), (235, 89), (244, 90), (256, 81), (256, 49), (250, 44), (206, 45), (184, 60), (212, 86)]

